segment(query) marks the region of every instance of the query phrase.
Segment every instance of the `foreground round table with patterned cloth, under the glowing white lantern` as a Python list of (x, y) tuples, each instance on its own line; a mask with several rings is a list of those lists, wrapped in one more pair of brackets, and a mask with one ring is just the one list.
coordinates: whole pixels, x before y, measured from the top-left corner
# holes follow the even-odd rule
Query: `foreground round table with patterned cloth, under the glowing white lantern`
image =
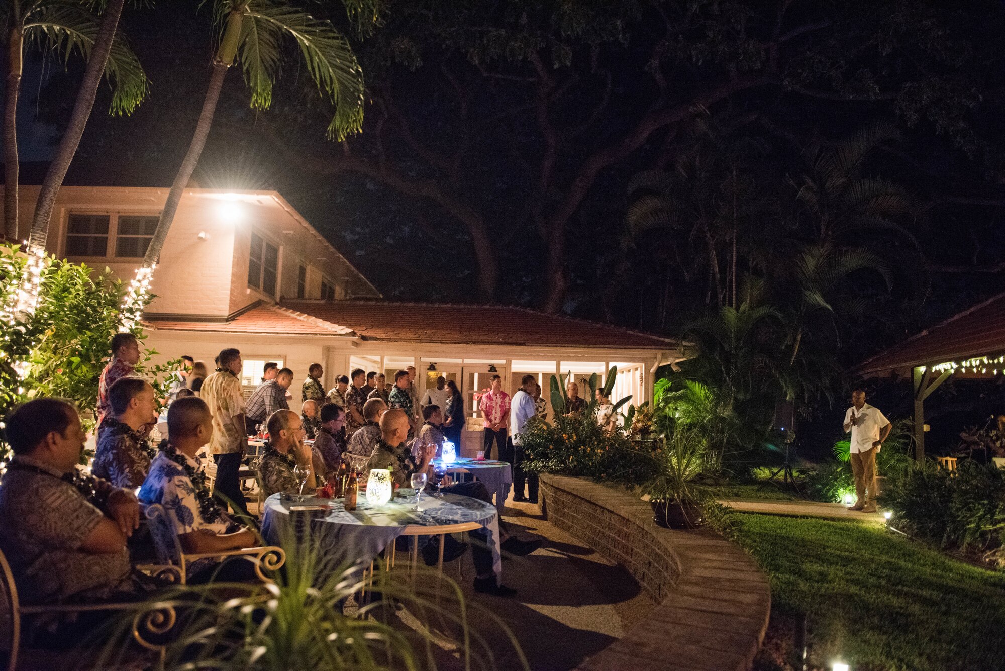
[(383, 505), (371, 505), (366, 494), (360, 493), (355, 510), (346, 510), (341, 498), (310, 496), (289, 501), (276, 493), (262, 506), (261, 533), (266, 542), (282, 546), (283, 540), (310, 530), (324, 549), (326, 564), (335, 569), (369, 567), (399, 535), (435, 535), (473, 522), (485, 529), (492, 568), (496, 576), (501, 575), (498, 513), (492, 504), (459, 494), (439, 498), (423, 494), (420, 510), (412, 510), (414, 505), (414, 493), (396, 496)]

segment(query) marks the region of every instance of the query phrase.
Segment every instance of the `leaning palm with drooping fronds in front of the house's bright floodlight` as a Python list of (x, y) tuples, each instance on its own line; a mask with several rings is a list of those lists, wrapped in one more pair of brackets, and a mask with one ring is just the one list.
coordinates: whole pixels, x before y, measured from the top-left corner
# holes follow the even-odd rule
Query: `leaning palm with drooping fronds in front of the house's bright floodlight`
[[(376, 17), (375, 0), (343, 0), (350, 16), (358, 20)], [(335, 105), (328, 137), (337, 141), (358, 133), (363, 126), (363, 70), (348, 40), (330, 22), (314, 18), (286, 0), (214, 0), (214, 19), (219, 45), (202, 111), (188, 153), (171, 186), (157, 230), (147, 248), (140, 273), (153, 268), (161, 255), (182, 192), (199, 163), (223, 79), (236, 61), (244, 71), (251, 92), (251, 106), (267, 109), (272, 101), (272, 82), (282, 62), (282, 45), (291, 39), (299, 48), (308, 73), (320, 92)]]

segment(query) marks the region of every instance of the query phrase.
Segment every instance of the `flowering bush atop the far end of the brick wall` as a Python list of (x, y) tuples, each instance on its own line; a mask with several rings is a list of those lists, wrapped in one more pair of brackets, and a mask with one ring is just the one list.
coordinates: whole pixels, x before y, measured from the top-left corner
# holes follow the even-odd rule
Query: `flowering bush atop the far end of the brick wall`
[(555, 424), (533, 419), (523, 435), (527, 470), (633, 485), (652, 475), (655, 442), (637, 447), (620, 431), (605, 433), (591, 415), (559, 415)]

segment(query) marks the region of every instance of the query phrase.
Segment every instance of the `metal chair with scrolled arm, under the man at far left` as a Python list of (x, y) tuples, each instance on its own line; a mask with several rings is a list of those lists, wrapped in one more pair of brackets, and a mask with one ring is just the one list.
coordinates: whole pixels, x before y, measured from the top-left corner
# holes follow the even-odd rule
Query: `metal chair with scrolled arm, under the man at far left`
[[(144, 566), (138, 569), (175, 583), (182, 582), (184, 574), (175, 567)], [(102, 604), (52, 604), (29, 606), (20, 602), (14, 575), (7, 564), (7, 557), (0, 551), (0, 652), (7, 653), (7, 669), (15, 671), (21, 648), (21, 618), (24, 616), (58, 616), (73, 613), (93, 613), (98, 611), (136, 611), (133, 616), (133, 638), (148, 650), (163, 655), (164, 646), (154, 643), (171, 630), (177, 619), (175, 609), (170, 604), (147, 603), (102, 603)]]

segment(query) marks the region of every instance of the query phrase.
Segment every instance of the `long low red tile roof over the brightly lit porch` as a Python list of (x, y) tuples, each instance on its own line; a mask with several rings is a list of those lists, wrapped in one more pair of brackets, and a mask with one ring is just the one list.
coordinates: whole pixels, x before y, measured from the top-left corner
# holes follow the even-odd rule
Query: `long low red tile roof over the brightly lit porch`
[(366, 340), (666, 350), (674, 341), (525, 307), (384, 300), (285, 300), (283, 306)]

